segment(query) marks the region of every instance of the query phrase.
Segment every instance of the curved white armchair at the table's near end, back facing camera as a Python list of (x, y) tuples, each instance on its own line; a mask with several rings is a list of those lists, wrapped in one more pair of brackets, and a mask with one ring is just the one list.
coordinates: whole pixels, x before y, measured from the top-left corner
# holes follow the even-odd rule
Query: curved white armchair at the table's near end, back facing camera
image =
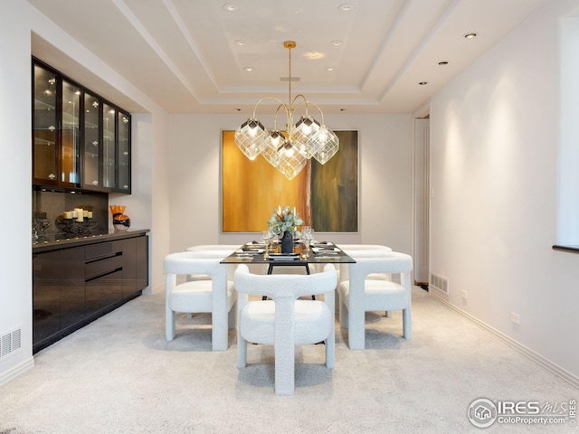
[[(334, 290), (337, 271), (327, 264), (324, 272), (303, 275), (256, 275), (246, 265), (235, 271), (238, 291), (237, 365), (247, 365), (247, 343), (275, 346), (275, 393), (292, 395), (295, 391), (295, 345), (326, 346), (326, 366), (334, 367), (335, 319)], [(299, 300), (298, 297), (324, 294), (324, 301)], [(250, 301), (248, 295), (271, 300)]]

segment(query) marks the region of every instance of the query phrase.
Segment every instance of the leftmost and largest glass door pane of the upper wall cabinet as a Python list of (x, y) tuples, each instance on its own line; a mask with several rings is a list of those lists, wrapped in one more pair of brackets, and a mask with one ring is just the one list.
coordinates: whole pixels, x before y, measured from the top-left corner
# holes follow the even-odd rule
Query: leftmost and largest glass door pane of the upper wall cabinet
[(56, 74), (34, 66), (33, 178), (58, 182)]

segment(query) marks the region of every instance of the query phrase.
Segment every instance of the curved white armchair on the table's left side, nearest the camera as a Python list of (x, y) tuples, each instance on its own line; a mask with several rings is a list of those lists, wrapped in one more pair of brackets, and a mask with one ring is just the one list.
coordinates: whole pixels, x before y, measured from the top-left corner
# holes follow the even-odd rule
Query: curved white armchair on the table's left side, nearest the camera
[[(220, 251), (182, 251), (165, 257), (166, 340), (175, 338), (176, 312), (211, 313), (212, 347), (227, 349), (227, 330), (234, 328), (236, 293), (228, 280), (228, 266), (220, 264)], [(208, 279), (177, 284), (177, 276), (206, 275)]]

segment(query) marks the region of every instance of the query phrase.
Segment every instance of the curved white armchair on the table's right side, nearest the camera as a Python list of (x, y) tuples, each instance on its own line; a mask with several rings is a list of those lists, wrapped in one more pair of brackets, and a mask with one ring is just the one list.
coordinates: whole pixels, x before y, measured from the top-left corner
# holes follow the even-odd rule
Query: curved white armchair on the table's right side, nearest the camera
[[(349, 264), (347, 278), (337, 287), (339, 294), (339, 321), (348, 329), (348, 345), (352, 350), (365, 348), (365, 312), (378, 310), (403, 311), (403, 336), (412, 338), (412, 299), (410, 275), (413, 259), (394, 251), (358, 250), (350, 256), (356, 263)], [(400, 283), (367, 278), (375, 273), (399, 274)]]

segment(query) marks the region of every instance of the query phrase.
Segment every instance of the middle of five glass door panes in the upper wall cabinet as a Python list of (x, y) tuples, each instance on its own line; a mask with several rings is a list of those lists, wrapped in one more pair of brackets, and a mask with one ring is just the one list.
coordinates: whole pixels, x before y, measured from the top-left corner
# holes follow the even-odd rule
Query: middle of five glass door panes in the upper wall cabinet
[(82, 184), (100, 186), (100, 100), (90, 93), (84, 95), (84, 171)]

